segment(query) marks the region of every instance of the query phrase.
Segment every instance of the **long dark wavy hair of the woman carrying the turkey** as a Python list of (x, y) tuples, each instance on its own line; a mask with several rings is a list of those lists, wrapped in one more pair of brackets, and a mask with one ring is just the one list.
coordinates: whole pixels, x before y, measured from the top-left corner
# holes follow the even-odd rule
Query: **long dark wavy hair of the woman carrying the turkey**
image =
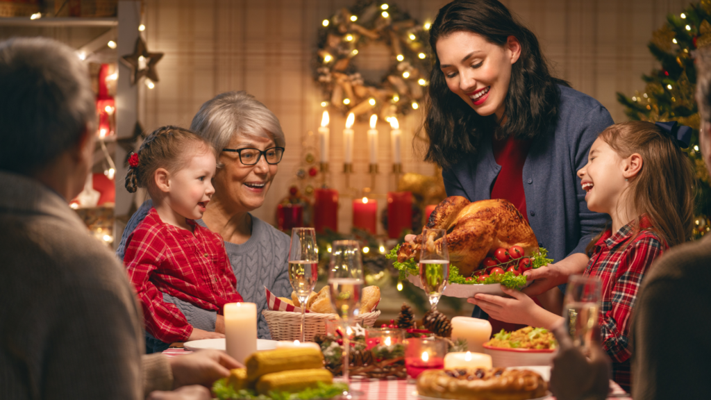
[[(496, 115), (482, 117), (447, 87), (439, 69), (437, 41), (457, 31), (468, 31), (486, 41), (503, 46), (508, 36), (515, 36), (521, 54), (512, 65), (506, 95), (506, 122), (498, 126)], [(424, 130), (429, 137), (425, 160), (450, 168), (479, 149), (481, 140), (493, 133), (497, 138), (514, 135), (516, 139), (535, 140), (546, 134), (555, 120), (560, 101), (556, 85), (569, 86), (550, 75), (538, 39), (516, 21), (506, 6), (497, 0), (455, 0), (442, 7), (429, 32), (434, 67), (430, 76), (429, 100)]]

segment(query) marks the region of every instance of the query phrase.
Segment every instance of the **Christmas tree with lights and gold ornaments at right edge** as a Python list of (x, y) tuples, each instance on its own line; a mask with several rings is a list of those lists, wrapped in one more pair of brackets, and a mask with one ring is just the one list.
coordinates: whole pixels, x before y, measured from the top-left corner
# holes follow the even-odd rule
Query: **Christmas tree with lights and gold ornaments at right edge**
[(652, 33), (649, 51), (661, 64), (643, 75), (643, 92), (628, 98), (617, 93), (617, 100), (626, 107), (630, 120), (650, 122), (678, 121), (692, 127), (690, 147), (685, 149), (697, 179), (695, 199), (696, 238), (710, 231), (707, 216), (711, 216), (711, 186), (709, 174), (699, 152), (698, 130), (700, 117), (694, 98), (696, 70), (694, 55), (698, 48), (711, 46), (711, 0), (690, 4), (680, 14), (670, 14), (667, 22)]

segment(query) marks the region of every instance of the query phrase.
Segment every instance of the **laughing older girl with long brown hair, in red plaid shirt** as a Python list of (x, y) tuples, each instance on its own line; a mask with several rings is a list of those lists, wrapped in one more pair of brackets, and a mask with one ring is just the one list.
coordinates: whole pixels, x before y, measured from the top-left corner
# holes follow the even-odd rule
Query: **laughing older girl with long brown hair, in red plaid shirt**
[[(693, 228), (693, 172), (677, 133), (675, 126), (624, 122), (599, 135), (578, 177), (588, 209), (609, 214), (611, 228), (591, 241), (578, 265), (543, 267), (535, 276), (550, 286), (565, 283), (572, 273), (601, 278), (602, 347), (612, 361), (613, 379), (627, 391), (637, 291), (653, 260), (687, 241)], [(528, 295), (502, 288), (511, 299), (476, 295), (470, 302), (505, 322), (547, 328), (562, 323), (560, 315), (535, 305)]]

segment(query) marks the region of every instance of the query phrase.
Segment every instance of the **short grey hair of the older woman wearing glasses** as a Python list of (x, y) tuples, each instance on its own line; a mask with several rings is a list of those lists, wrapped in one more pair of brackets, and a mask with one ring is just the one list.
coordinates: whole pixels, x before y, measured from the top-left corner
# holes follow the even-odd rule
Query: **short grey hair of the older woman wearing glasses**
[(287, 142), (279, 118), (244, 90), (221, 93), (203, 103), (190, 129), (212, 142), (218, 152), (234, 135), (266, 137), (278, 147)]

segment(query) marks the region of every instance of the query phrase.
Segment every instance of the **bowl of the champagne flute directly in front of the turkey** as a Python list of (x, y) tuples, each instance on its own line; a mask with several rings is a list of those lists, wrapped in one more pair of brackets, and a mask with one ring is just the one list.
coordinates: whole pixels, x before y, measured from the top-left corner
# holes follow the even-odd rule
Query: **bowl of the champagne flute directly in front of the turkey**
[(444, 229), (422, 230), (422, 253), (419, 256), (419, 280), (429, 296), (432, 310), (449, 282), (449, 251), (447, 231)]

